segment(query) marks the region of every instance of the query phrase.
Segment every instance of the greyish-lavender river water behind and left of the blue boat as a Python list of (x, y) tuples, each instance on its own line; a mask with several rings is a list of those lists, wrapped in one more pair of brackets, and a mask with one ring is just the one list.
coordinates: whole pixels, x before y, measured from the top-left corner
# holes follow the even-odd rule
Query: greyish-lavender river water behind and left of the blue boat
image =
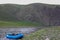
[(7, 33), (24, 33), (30, 34), (37, 31), (38, 28), (0, 28), (0, 40), (8, 40), (5, 38)]

